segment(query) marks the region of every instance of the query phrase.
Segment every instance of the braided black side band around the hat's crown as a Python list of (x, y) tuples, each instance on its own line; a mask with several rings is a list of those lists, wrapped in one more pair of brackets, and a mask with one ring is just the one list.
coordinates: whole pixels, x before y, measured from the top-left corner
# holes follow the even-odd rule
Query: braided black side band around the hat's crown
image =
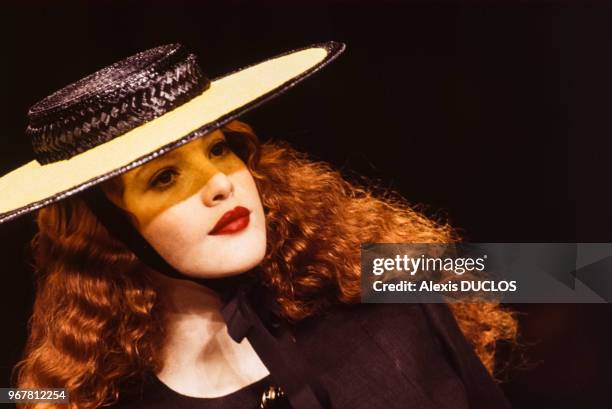
[[(151, 78), (153, 77), (153, 78)], [(193, 54), (146, 81), (113, 89), (103, 100), (87, 101), (26, 129), (35, 159), (42, 165), (110, 141), (200, 95), (210, 87)]]

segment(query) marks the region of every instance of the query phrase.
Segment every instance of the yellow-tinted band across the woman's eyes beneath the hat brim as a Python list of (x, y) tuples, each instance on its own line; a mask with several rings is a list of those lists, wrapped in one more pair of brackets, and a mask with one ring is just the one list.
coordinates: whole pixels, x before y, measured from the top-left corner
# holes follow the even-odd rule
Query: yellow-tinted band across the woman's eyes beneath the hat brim
[(217, 173), (230, 175), (246, 165), (215, 130), (122, 174), (123, 192), (109, 195), (144, 229), (157, 215), (196, 194)]

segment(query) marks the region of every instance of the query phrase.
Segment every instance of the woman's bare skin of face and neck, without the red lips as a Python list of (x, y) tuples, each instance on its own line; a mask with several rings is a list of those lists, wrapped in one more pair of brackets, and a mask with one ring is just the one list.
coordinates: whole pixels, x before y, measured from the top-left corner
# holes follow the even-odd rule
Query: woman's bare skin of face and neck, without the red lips
[[(219, 130), (119, 176), (122, 192), (109, 198), (133, 215), (136, 228), (175, 269), (191, 277), (245, 272), (265, 255), (261, 199), (246, 165)], [(246, 207), (248, 226), (208, 234), (219, 218)], [(188, 280), (150, 274), (160, 288), (167, 339), (158, 378), (178, 393), (219, 397), (269, 374), (245, 338), (227, 333), (221, 301), (209, 288)]]

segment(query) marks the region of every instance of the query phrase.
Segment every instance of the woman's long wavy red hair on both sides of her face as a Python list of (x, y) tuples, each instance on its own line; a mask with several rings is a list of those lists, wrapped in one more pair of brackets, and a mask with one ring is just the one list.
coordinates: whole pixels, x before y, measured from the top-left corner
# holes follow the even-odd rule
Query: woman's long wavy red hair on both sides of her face
[[(288, 320), (360, 301), (363, 242), (460, 239), (448, 223), (426, 217), (395, 192), (349, 182), (285, 142), (260, 144), (245, 123), (222, 130), (257, 183), (268, 234), (259, 270)], [(158, 291), (145, 266), (78, 196), (41, 209), (36, 221), (36, 298), (24, 359), (13, 374), (17, 385), (67, 388), (71, 408), (112, 403), (146, 371), (161, 369)], [(514, 315), (493, 303), (450, 307), (493, 374), (498, 341), (516, 337)]]

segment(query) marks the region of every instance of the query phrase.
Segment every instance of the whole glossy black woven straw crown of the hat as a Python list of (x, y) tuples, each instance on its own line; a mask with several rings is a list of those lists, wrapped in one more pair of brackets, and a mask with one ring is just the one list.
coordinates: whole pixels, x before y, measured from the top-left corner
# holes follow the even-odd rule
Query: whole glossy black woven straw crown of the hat
[(41, 164), (69, 159), (157, 118), (210, 86), (181, 44), (142, 51), (33, 105), (26, 134)]

